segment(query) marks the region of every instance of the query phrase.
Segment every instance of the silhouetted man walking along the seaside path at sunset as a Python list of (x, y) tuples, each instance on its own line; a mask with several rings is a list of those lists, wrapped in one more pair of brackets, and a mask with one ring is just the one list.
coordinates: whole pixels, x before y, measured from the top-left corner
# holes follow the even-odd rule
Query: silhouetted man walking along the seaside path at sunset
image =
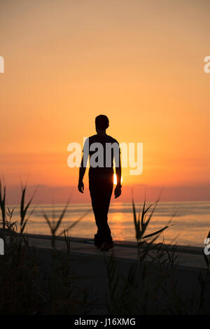
[(113, 191), (113, 158), (116, 164), (117, 186), (115, 198), (121, 195), (121, 165), (120, 147), (118, 141), (106, 134), (109, 127), (107, 116), (95, 118), (97, 134), (86, 139), (83, 147), (83, 159), (80, 164), (78, 190), (83, 193), (83, 176), (90, 155), (89, 190), (92, 209), (97, 224), (97, 234), (94, 235), (94, 245), (102, 251), (113, 248), (111, 230), (107, 223), (109, 204)]

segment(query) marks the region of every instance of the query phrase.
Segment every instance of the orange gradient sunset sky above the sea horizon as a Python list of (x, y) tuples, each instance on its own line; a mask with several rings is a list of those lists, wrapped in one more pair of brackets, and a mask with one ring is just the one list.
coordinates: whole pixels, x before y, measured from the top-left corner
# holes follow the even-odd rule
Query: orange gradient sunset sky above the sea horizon
[[(76, 188), (67, 145), (94, 134), (144, 143), (125, 194), (210, 199), (209, 0), (1, 0), (0, 172), (8, 186)], [(85, 177), (87, 187), (87, 174)], [(194, 189), (194, 190), (193, 190)], [(188, 191), (188, 192), (187, 192)], [(74, 193), (76, 202), (86, 195)], [(45, 193), (40, 194), (44, 202)], [(119, 200), (120, 201), (120, 200)]]

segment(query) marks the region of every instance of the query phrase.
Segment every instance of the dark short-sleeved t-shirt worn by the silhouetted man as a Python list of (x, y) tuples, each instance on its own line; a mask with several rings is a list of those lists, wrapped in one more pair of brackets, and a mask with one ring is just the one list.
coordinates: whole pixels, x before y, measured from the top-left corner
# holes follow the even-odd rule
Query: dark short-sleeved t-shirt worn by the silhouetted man
[(83, 147), (84, 162), (90, 155), (89, 179), (113, 176), (113, 158), (116, 167), (120, 163), (120, 146), (109, 135), (93, 135), (85, 140)]

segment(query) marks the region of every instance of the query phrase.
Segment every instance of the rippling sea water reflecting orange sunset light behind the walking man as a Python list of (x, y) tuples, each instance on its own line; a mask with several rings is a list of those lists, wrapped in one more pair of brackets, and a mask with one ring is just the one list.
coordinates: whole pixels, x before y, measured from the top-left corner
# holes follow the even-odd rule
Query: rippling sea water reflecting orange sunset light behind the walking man
[[(143, 204), (135, 204), (137, 211), (141, 211)], [(59, 218), (64, 208), (63, 204), (44, 204), (35, 206), (33, 214), (27, 223), (27, 232), (49, 235), (50, 229), (43, 218), (43, 213), (49, 218)], [(31, 206), (33, 209), (33, 206)], [(18, 220), (20, 210), (15, 209), (13, 220)], [(54, 215), (52, 215), (54, 214)], [(174, 215), (175, 214), (175, 215)], [(172, 216), (174, 216), (172, 218)], [(94, 215), (90, 204), (70, 204), (58, 232), (83, 217), (70, 232), (71, 237), (92, 238), (96, 232)], [(210, 202), (160, 202), (148, 225), (147, 234), (160, 230), (172, 219), (169, 228), (163, 232), (167, 243), (176, 241), (182, 245), (203, 246), (204, 239), (210, 230)], [(109, 225), (113, 239), (121, 241), (135, 241), (134, 219), (131, 203), (111, 203), (109, 211)]]

